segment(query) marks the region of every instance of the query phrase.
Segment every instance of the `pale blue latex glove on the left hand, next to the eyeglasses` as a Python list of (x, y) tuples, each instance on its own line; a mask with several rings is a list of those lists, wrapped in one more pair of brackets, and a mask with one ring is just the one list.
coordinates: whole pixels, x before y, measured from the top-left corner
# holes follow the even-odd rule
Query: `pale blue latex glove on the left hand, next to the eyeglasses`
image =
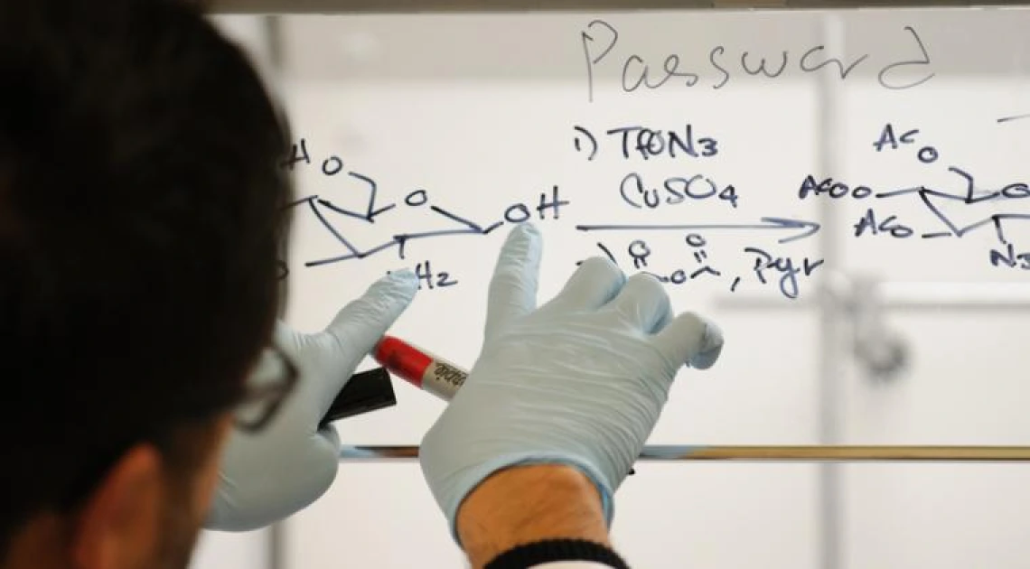
[[(264, 430), (231, 435), (206, 528), (267, 526), (329, 489), (340, 463), (340, 437), (332, 425), (319, 428), (318, 423), (417, 290), (412, 272), (394, 272), (345, 306), (321, 332), (304, 334), (277, 324), (274, 342), (298, 365), (299, 384)], [(265, 359), (251, 376), (254, 383), (279, 367)]]

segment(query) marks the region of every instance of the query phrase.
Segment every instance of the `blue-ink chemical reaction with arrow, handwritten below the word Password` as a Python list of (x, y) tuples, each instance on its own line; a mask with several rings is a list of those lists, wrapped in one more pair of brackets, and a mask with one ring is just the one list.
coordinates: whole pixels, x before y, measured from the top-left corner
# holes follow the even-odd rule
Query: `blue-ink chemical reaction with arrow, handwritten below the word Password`
[[(692, 171), (698, 165), (720, 152), (718, 138), (699, 133), (694, 126), (686, 123), (679, 129), (652, 129), (643, 126), (622, 126), (594, 130), (584, 125), (572, 126), (572, 148), (586, 161), (595, 161), (604, 154), (624, 162), (647, 162), (656, 158), (693, 161)], [(911, 150), (915, 162), (926, 167), (939, 167), (940, 152), (932, 144), (921, 140), (918, 129), (903, 128), (887, 122), (870, 136), (872, 151), (896, 152)], [(544, 191), (537, 191), (531, 200), (515, 202), (489, 218), (474, 219), (469, 212), (450, 209), (450, 206), (433, 203), (431, 191), (425, 188), (406, 188), (401, 191), (383, 190), (372, 176), (345, 168), (342, 158), (335, 154), (312, 158), (309, 143), (301, 139), (294, 145), (293, 157), (283, 168), (319, 168), (328, 178), (340, 176), (349, 184), (351, 192), (365, 192), (366, 205), (359, 210), (351, 210), (335, 204), (320, 194), (305, 195), (293, 204), (291, 208), (306, 212), (339, 244), (338, 255), (305, 259), (307, 268), (334, 265), (344, 261), (357, 261), (376, 255), (392, 252), (400, 259), (406, 259), (409, 248), (417, 242), (426, 242), (456, 236), (488, 236), (505, 224), (521, 223), (529, 220), (569, 225), (568, 215), (577, 212), (576, 204), (558, 185)], [(1030, 270), (1030, 249), (1019, 247), (1006, 235), (1006, 227), (1014, 223), (1030, 221), (1030, 213), (1022, 211), (994, 212), (973, 222), (960, 223), (945, 213), (942, 202), (975, 205), (985, 202), (1016, 203), (1030, 198), (1030, 185), (1012, 182), (996, 190), (975, 189), (972, 173), (959, 166), (948, 166), (946, 171), (955, 176), (964, 187), (962, 192), (949, 192), (928, 186), (903, 188), (872, 188), (861, 183), (849, 183), (832, 177), (820, 178), (813, 174), (802, 174), (794, 198), (799, 201), (850, 200), (868, 203), (864, 212), (849, 225), (851, 237), (855, 239), (961, 239), (980, 230), (993, 230), (997, 246), (987, 251), (987, 262), (996, 268)], [(645, 172), (634, 169), (613, 184), (613, 193), (626, 210), (659, 210), (676, 207), (688, 202), (711, 202), (719, 204), (724, 211), (733, 214), (746, 192), (739, 191), (732, 183), (711, 179), (693, 172), (689, 175), (658, 177), (651, 179)], [(388, 195), (389, 199), (384, 198)], [(912, 221), (891, 213), (892, 206), (901, 200), (919, 204), (936, 220), (934, 226), (917, 227)], [(342, 229), (343, 219), (358, 220), (365, 224), (375, 224), (385, 219), (399, 208), (416, 208), (425, 216), (439, 221), (446, 220), (451, 228), (436, 228), (397, 233), (388, 240), (362, 244), (359, 235), (353, 227)], [(825, 259), (797, 255), (778, 249), (791, 243), (817, 236), (822, 226), (815, 220), (789, 217), (762, 216), (753, 220), (716, 222), (712, 219), (697, 219), (683, 223), (619, 223), (618, 219), (594, 220), (593, 223), (575, 222), (572, 228), (583, 234), (597, 235), (593, 254), (607, 256), (612, 262), (631, 272), (653, 275), (670, 286), (685, 286), (702, 280), (724, 280), (730, 292), (737, 291), (745, 283), (759, 286), (775, 286), (786, 298), (797, 298), (805, 279), (812, 277)], [(350, 224), (352, 225), (352, 223)], [(348, 233), (349, 232), (349, 233)], [(762, 235), (775, 245), (751, 244), (739, 252), (751, 259), (745, 274), (724, 270), (719, 259), (710, 250), (709, 239), (714, 234), (725, 232), (748, 232)], [(630, 235), (624, 250), (606, 243), (606, 235)], [(654, 261), (653, 245), (646, 235), (675, 234), (682, 243), (679, 257), (682, 262), (676, 266), (662, 266)], [(419, 248), (419, 254), (433, 252), (439, 248)], [(586, 255), (584, 255), (585, 257)], [(578, 262), (581, 262), (579, 260)], [(437, 261), (438, 263), (442, 261)], [(460, 279), (448, 271), (436, 271), (434, 260), (418, 260), (415, 270), (421, 286), (428, 289), (454, 286)]]

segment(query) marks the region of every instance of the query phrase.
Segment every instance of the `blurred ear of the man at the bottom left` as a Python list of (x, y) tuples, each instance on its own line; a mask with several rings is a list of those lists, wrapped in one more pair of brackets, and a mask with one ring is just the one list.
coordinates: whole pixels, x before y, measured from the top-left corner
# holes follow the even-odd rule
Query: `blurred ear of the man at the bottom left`
[(74, 522), (74, 567), (140, 567), (158, 541), (164, 479), (161, 456), (152, 446), (138, 444), (122, 455)]

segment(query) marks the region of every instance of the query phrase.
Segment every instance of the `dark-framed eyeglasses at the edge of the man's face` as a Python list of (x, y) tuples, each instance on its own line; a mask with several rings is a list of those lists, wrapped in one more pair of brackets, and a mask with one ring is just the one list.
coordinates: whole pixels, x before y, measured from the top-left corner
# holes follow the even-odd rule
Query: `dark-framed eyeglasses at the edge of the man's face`
[(254, 433), (264, 429), (297, 386), (297, 364), (274, 344), (262, 353), (248, 378), (246, 393), (235, 411), (236, 426)]

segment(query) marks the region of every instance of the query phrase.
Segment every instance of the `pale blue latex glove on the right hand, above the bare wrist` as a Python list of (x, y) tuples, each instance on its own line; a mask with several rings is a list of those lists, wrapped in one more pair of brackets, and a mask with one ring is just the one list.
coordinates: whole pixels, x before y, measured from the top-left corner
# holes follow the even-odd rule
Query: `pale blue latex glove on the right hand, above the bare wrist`
[(612, 494), (654, 429), (677, 372), (708, 368), (722, 333), (673, 314), (653, 277), (628, 279), (605, 258), (583, 262), (536, 308), (542, 240), (523, 223), (505, 243), (489, 288), (483, 349), (422, 440), (422, 472), (454, 526), (480, 482), (511, 465), (561, 463)]

